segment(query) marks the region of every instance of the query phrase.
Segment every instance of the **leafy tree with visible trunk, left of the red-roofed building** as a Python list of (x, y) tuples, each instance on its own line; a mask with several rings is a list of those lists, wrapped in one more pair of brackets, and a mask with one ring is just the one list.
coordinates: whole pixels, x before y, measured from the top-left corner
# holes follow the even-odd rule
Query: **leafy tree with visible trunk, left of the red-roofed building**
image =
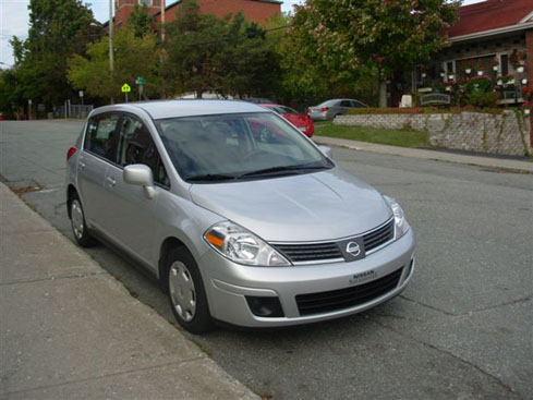
[[(307, 0), (296, 7), (290, 35), (322, 73), (374, 71), (379, 106), (395, 71), (425, 62), (447, 45), (441, 32), (456, 19), (458, 1)], [(315, 56), (313, 56), (315, 54)]]

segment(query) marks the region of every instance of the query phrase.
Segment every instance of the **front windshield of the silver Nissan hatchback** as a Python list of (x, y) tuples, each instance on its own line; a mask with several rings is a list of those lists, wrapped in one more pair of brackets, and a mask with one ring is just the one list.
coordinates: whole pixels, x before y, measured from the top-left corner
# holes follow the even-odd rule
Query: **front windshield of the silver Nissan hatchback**
[(296, 130), (270, 112), (157, 120), (178, 173), (221, 182), (307, 173), (332, 167)]

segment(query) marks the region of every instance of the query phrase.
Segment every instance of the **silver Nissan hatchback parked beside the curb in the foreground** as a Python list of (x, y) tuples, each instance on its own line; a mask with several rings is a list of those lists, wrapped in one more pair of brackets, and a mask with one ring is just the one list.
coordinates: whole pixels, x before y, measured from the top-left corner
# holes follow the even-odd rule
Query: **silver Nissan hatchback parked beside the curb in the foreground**
[(413, 271), (399, 204), (249, 102), (94, 110), (68, 153), (66, 201), (77, 243), (104, 239), (144, 265), (195, 334), (351, 315)]

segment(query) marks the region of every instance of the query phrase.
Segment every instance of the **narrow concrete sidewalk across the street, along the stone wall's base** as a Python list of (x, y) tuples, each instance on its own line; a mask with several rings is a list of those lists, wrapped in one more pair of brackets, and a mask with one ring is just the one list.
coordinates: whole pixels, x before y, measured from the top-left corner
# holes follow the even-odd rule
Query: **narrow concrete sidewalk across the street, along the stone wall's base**
[(349, 141), (344, 138), (326, 137), (326, 136), (313, 136), (313, 141), (319, 145), (341, 146), (341, 147), (352, 148), (354, 150), (390, 154), (395, 156), (423, 158), (427, 160), (458, 162), (458, 163), (467, 163), (471, 166), (533, 172), (533, 162), (528, 160), (514, 160), (508, 158), (463, 155), (463, 154), (456, 154), (456, 153), (429, 150), (423, 148), (387, 146), (387, 145), (379, 145), (376, 143), (356, 142), (356, 141)]

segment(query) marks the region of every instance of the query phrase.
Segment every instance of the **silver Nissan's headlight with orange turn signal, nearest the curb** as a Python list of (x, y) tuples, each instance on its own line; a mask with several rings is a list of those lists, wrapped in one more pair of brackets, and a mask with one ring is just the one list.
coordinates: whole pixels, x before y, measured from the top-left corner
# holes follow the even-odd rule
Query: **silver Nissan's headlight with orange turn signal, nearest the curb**
[(204, 233), (204, 240), (218, 253), (239, 264), (269, 267), (291, 265), (263, 240), (230, 221), (210, 227)]

